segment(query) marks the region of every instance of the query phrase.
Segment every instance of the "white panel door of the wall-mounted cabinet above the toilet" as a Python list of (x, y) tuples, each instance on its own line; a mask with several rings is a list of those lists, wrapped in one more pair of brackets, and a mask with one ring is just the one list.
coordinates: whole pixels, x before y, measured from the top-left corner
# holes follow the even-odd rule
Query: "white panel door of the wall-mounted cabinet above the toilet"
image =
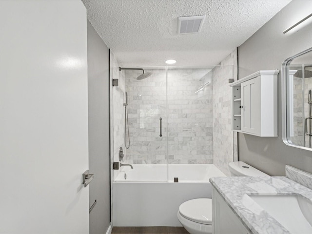
[(241, 130), (260, 135), (260, 77), (241, 83)]

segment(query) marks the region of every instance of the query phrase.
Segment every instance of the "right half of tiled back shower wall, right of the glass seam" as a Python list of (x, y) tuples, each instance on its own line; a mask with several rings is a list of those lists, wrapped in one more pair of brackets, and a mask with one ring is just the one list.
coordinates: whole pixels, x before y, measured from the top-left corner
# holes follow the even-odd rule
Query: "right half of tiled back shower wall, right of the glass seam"
[(168, 69), (167, 82), (168, 163), (213, 163), (211, 70)]

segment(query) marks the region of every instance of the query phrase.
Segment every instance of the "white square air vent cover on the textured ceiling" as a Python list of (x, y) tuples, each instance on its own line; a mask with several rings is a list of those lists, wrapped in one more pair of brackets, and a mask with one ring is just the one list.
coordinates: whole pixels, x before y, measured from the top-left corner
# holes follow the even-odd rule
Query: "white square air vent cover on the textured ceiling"
[(178, 17), (177, 33), (198, 33), (203, 25), (205, 17), (206, 16)]

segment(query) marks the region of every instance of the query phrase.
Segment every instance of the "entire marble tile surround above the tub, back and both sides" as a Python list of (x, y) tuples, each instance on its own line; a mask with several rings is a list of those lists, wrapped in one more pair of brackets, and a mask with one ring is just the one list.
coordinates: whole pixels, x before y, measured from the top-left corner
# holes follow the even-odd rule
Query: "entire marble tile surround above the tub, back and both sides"
[[(124, 163), (214, 163), (229, 176), (227, 165), (233, 158), (237, 160), (237, 133), (231, 131), (228, 86), (230, 78), (237, 79), (236, 57), (235, 50), (217, 66), (143, 67), (152, 75), (142, 80), (137, 80), (141, 70), (122, 70), (121, 74), (111, 69), (122, 82), (122, 87), (114, 87), (117, 94), (111, 97), (116, 105), (113, 121), (117, 124), (114, 155), (124, 145), (120, 124), (124, 116), (122, 98), (127, 91), (131, 144), (124, 151)], [(112, 64), (118, 67), (114, 58)]]

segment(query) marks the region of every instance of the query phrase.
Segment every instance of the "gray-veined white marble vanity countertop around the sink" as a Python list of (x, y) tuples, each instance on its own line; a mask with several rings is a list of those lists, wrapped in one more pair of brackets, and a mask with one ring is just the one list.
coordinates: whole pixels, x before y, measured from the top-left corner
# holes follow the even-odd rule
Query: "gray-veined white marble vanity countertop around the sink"
[(213, 177), (209, 181), (253, 234), (290, 234), (290, 232), (249, 195), (301, 195), (312, 201), (311, 189), (284, 176)]

